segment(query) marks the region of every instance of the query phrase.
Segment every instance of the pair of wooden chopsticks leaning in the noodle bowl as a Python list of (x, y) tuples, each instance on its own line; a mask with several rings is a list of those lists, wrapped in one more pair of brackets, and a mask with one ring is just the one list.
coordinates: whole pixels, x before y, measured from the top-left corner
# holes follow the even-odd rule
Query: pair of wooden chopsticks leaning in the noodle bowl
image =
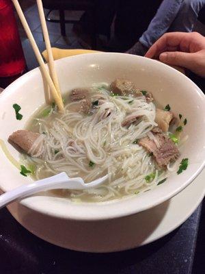
[(60, 112), (64, 111), (64, 103), (62, 101), (62, 97), (61, 97), (61, 92), (60, 92), (60, 88), (59, 88), (59, 82), (57, 79), (57, 73), (55, 71), (55, 65), (54, 65), (54, 61), (53, 61), (53, 53), (51, 50), (51, 42), (49, 39), (49, 32), (46, 26), (46, 20), (45, 20), (45, 16), (44, 16), (44, 10), (43, 10), (43, 5), (42, 5), (42, 0), (36, 0), (37, 5), (38, 5), (38, 12), (39, 12), (39, 16), (40, 16), (40, 22), (42, 25), (42, 32), (44, 35), (44, 41), (46, 44), (46, 50), (49, 56), (49, 70), (51, 73), (51, 76), (49, 75), (49, 71), (46, 69), (46, 64), (44, 63), (44, 60), (42, 59), (42, 55), (40, 54), (40, 51), (38, 49), (38, 46), (36, 45), (36, 41), (33, 38), (33, 35), (31, 33), (31, 29), (29, 28), (29, 25), (26, 21), (26, 18), (23, 14), (22, 9), (20, 8), (20, 5), (18, 3), (18, 0), (12, 0), (12, 2), (14, 3), (14, 7), (16, 8), (16, 12), (18, 13), (18, 16), (20, 18), (20, 21), (25, 29), (25, 32), (27, 34), (27, 37), (29, 38), (29, 41), (31, 43), (31, 47), (33, 48), (33, 51), (36, 55), (36, 58), (38, 60), (38, 63), (40, 64), (40, 68), (42, 69), (42, 73), (46, 79), (46, 82), (49, 85), (49, 88), (51, 90), (51, 94), (53, 96), (53, 99), (55, 100), (55, 103), (57, 105), (57, 107), (59, 108)]

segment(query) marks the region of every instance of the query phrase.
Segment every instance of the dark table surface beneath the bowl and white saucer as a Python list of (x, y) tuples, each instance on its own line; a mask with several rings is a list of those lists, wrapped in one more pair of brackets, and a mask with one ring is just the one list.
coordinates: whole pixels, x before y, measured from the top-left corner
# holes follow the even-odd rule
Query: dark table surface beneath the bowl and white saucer
[[(42, 51), (44, 44), (38, 44)], [(23, 49), (28, 70), (38, 66), (27, 40)], [(204, 90), (204, 79), (189, 77)], [(56, 247), (33, 236), (4, 208), (0, 212), (0, 273), (205, 273), (204, 212), (201, 204), (178, 229), (144, 247), (116, 253), (83, 253)]]

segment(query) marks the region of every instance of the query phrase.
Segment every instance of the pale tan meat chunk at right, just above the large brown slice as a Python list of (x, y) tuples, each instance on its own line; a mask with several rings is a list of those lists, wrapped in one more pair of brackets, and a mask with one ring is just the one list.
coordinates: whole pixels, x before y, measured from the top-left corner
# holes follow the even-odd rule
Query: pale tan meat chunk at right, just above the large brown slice
[(169, 111), (160, 110), (156, 108), (156, 116), (155, 122), (157, 123), (158, 127), (161, 128), (163, 132), (167, 132), (169, 129), (169, 123), (174, 118), (174, 114)]

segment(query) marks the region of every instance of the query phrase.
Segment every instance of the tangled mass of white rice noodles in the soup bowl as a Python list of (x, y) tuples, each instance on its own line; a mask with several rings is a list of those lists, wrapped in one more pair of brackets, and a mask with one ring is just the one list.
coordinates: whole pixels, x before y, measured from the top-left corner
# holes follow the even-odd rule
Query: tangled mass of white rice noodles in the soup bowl
[[(91, 182), (108, 174), (107, 182), (98, 188), (64, 190), (63, 195), (73, 201), (106, 201), (154, 187), (167, 173), (159, 173), (148, 152), (133, 144), (148, 136), (159, 147), (150, 132), (156, 126), (154, 103), (147, 103), (143, 96), (111, 97), (105, 83), (100, 90), (94, 86), (90, 96), (92, 101), (102, 100), (91, 115), (76, 112), (77, 102), (72, 102), (65, 105), (64, 114), (54, 110), (49, 117), (32, 121), (29, 129), (39, 132), (40, 137), (25, 160), (36, 165), (36, 179), (65, 171), (69, 177)], [(123, 127), (122, 121), (133, 113), (140, 115), (140, 120)], [(155, 177), (148, 183), (145, 176), (150, 173)]]

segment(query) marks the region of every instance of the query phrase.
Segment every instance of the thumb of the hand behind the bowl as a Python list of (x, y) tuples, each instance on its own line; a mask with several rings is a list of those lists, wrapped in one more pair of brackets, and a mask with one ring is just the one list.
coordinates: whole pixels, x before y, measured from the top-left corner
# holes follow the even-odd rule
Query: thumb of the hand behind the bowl
[(194, 53), (180, 51), (163, 52), (159, 55), (159, 60), (165, 64), (182, 66), (186, 69), (193, 69)]

